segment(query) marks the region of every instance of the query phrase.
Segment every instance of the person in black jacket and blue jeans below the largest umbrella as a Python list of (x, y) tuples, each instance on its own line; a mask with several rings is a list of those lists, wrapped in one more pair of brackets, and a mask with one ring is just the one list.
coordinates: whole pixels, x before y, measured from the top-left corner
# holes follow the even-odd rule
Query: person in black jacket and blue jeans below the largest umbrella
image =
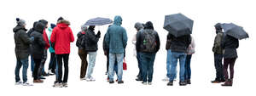
[(173, 85), (173, 80), (177, 74), (177, 59), (179, 59), (179, 67), (180, 67), (180, 74), (179, 74), (179, 85), (185, 86), (187, 83), (184, 81), (184, 72), (185, 72), (185, 60), (189, 48), (189, 44), (191, 43), (190, 35), (184, 35), (182, 37), (174, 37), (172, 34), (168, 34), (170, 38), (170, 48), (171, 49), (171, 74), (169, 76), (169, 82), (167, 86)]

